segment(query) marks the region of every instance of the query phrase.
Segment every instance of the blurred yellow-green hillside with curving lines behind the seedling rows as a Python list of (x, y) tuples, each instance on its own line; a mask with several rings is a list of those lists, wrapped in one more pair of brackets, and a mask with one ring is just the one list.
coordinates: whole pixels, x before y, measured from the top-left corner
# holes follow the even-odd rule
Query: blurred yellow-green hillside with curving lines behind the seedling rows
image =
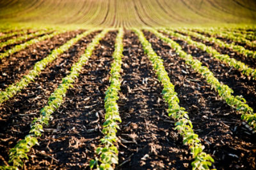
[(196, 27), (256, 24), (253, 0), (0, 1), (2, 25)]

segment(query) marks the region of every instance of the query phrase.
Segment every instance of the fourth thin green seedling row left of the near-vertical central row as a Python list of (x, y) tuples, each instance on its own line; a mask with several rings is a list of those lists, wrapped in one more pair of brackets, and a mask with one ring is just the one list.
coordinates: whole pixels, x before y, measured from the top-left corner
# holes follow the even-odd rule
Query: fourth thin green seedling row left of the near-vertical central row
[(43, 31), (31, 33), (31, 34), (25, 34), (24, 36), (20, 36), (18, 38), (8, 39), (7, 41), (0, 43), (0, 48), (3, 48), (4, 46), (7, 46), (7, 45), (13, 45), (15, 43), (19, 43), (20, 41), (24, 41), (26, 39), (33, 38), (35, 36), (40, 36), (42, 34), (46, 34), (47, 32), (49, 32), (49, 31), (43, 30)]

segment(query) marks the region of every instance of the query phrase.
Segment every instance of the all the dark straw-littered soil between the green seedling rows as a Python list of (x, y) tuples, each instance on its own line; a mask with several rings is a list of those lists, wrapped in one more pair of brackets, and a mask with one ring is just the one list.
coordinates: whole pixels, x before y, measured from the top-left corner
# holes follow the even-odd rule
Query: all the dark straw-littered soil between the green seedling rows
[[(105, 146), (100, 143), (100, 139), (106, 136), (104, 104), (107, 100), (106, 92), (113, 83), (111, 76), (114, 72), (111, 67), (115, 60), (113, 55), (117, 48), (118, 31), (108, 31), (102, 39), (99, 38), (99, 43), (95, 43), (94, 39), (98, 38), (101, 31), (88, 32), (83, 38), (72, 42), (68, 50), (60, 52), (56, 59), (46, 64), (45, 69), (39, 71), (39, 76), (35, 76), (28, 85), (17, 90), (13, 96), (8, 96), (8, 99), (3, 97), (3, 92), (9, 92), (5, 91), (6, 88), (17, 84), (29, 74), (37, 62), (83, 32), (85, 31), (61, 32), (1, 59), (0, 90), (3, 101), (0, 104), (0, 165), (12, 166), (13, 162), (8, 163), (10, 149), (28, 134), (35, 136), (29, 132), (33, 119), (42, 114), (45, 116), (41, 109), (51, 105), (49, 101), (55, 99), (52, 99), (52, 94), (60, 88), (61, 83), (65, 83), (63, 78), (71, 73), (70, 70), (74, 70), (81, 55), (93, 43), (95, 46), (92, 55), (88, 56), (74, 82), (70, 81), (72, 86), (67, 88), (60, 106), (54, 108), (49, 124), (42, 124), (44, 132), (37, 138), (38, 145), (29, 148), (29, 152), (26, 152), (28, 159), (22, 159), (24, 165), (21, 167), (90, 169), (90, 160), (99, 157), (97, 148)], [(160, 32), (178, 43), (193, 59), (202, 62), (202, 66), (208, 67), (215, 78), (234, 90), (232, 95), (243, 97), (246, 104), (256, 110), (256, 81), (253, 76), (243, 74), (227, 62), (215, 59), (211, 53), (189, 45), (184, 39), (166, 34), (166, 31)], [(241, 120), (244, 112), (240, 108), (237, 111), (236, 104), (226, 102), (225, 96), (214, 90), (207, 78), (180, 57), (180, 53), (170, 43), (150, 30), (143, 30), (143, 34), (154, 52), (163, 60), (170, 83), (175, 85), (179, 106), (188, 111), (189, 118), (186, 120), (191, 121), (193, 132), (200, 139), (193, 142), (204, 145), (204, 152), (214, 159), (209, 167), (255, 169), (256, 134), (253, 125), (250, 127), (248, 122)], [(209, 36), (206, 33), (204, 35)], [(8, 39), (10, 38), (1, 39), (1, 43)], [(255, 69), (253, 57), (244, 57), (242, 53), (220, 47), (214, 42), (195, 37), (191, 39), (212, 46), (219, 53), (227, 54)], [(218, 39), (232, 43), (227, 38)], [(0, 52), (4, 53), (26, 41), (7, 45)], [(186, 143), (184, 134), (175, 129), (179, 125), (175, 122), (180, 120), (170, 116), (170, 103), (166, 103), (163, 92), (165, 85), (157, 76), (157, 67), (145, 52), (138, 33), (125, 30), (122, 45), (120, 90), (116, 100), (122, 122), (118, 123), (116, 141), (111, 144), (118, 149), (118, 162), (112, 162), (112, 166), (115, 169), (192, 169), (191, 163), (195, 157), (190, 152), (194, 144)], [(243, 43), (236, 45), (255, 52), (254, 46)]]

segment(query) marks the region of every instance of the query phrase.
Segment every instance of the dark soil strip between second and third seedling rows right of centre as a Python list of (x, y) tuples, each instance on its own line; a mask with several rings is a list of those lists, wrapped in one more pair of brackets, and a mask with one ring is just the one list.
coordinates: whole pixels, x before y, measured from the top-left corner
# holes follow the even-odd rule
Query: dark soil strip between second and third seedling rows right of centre
[[(223, 64), (220, 60), (213, 59), (209, 53), (206, 53), (194, 46), (188, 45), (186, 42), (179, 39), (173, 38), (177, 41), (185, 52), (191, 53), (193, 57), (200, 60), (204, 66), (209, 67), (209, 69), (214, 73), (214, 76), (218, 78), (219, 81), (228, 85), (232, 90), (234, 90), (234, 96), (242, 95), (246, 99), (249, 106), (256, 110), (256, 81), (248, 76), (243, 76), (241, 71), (234, 69), (233, 67)], [(221, 51), (221, 53), (223, 53)], [(251, 62), (256, 66), (255, 62)]]

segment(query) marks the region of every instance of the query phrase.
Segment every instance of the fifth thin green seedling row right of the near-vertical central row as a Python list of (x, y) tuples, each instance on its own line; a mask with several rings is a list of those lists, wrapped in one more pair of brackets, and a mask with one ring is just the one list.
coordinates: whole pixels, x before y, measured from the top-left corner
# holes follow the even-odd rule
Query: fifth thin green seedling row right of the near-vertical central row
[(227, 33), (224, 33), (224, 32), (218, 31), (218, 30), (214, 30), (214, 29), (195, 29), (195, 30), (199, 31), (199, 32), (207, 33), (211, 36), (218, 36), (218, 37), (221, 37), (221, 38), (227, 38), (227, 39), (230, 39), (230, 40), (235, 41), (237, 43), (244, 43), (248, 46), (256, 47), (255, 42), (250, 41), (250, 40), (248, 40), (246, 38), (243, 38), (241, 36), (236, 36), (236, 34), (234, 34), (233, 32), (229, 32), (227, 34)]

